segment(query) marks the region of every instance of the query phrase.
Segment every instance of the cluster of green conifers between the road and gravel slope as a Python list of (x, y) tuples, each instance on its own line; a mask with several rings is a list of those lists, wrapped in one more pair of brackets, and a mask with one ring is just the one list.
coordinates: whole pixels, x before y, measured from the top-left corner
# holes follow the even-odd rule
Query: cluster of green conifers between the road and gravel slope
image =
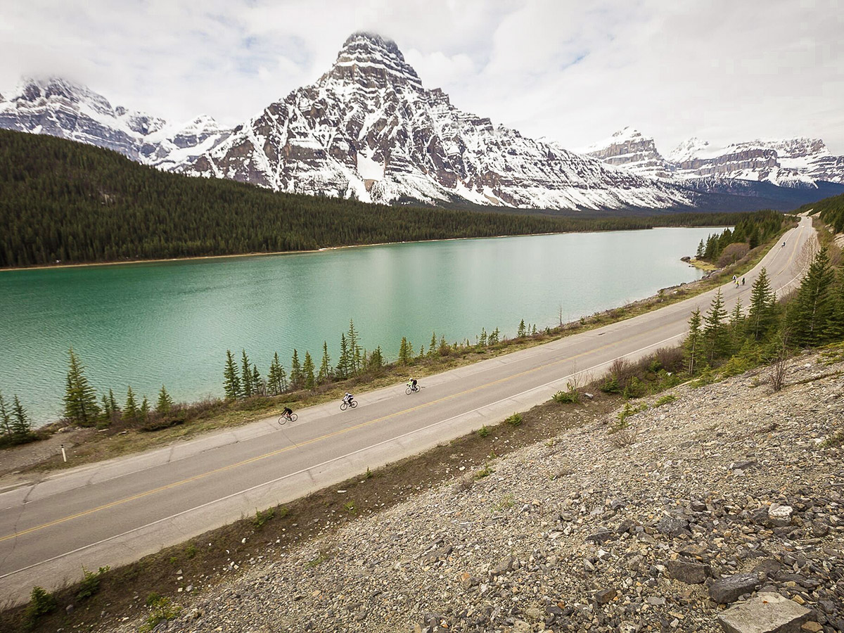
[(762, 268), (747, 310), (740, 300), (729, 314), (721, 290), (705, 314), (692, 312), (683, 349), (685, 369), (698, 374), (724, 361), (744, 371), (744, 361), (773, 360), (784, 349), (816, 347), (844, 340), (844, 268), (836, 273), (820, 249), (798, 290), (778, 302)]

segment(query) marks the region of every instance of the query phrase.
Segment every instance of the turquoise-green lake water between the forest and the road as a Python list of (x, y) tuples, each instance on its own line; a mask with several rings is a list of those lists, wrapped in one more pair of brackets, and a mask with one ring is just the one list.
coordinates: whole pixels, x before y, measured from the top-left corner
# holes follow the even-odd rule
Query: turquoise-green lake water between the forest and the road
[(154, 404), (222, 396), (225, 350), (266, 376), (274, 352), (337, 361), (354, 319), (387, 359), (401, 338), (474, 340), (542, 328), (699, 279), (679, 258), (720, 229), (654, 229), (419, 242), (336, 251), (0, 273), (0, 391), (36, 424), (62, 411), (68, 348), (98, 392)]

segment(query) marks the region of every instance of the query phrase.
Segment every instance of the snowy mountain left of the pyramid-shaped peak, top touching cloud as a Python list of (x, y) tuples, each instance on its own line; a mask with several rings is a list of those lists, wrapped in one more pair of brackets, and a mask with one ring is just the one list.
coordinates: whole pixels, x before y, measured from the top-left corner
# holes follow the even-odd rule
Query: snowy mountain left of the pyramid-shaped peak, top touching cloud
[(0, 127), (89, 143), (165, 168), (192, 160), (227, 135), (209, 116), (171, 125), (157, 116), (111, 106), (103, 95), (57, 77), (27, 78), (13, 92), (0, 95)]

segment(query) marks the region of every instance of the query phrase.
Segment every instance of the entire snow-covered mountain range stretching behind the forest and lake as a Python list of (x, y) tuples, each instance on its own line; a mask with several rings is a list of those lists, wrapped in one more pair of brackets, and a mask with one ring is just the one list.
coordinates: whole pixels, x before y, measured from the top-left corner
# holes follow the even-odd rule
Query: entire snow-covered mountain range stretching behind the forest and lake
[(364, 202), (550, 211), (794, 208), (844, 192), (820, 139), (692, 138), (663, 155), (631, 128), (582, 153), (452, 106), (395, 42), (355, 33), (332, 68), (249, 121), (184, 125), (111, 106), (62, 78), (0, 95), (0, 128), (113, 149), (145, 165)]

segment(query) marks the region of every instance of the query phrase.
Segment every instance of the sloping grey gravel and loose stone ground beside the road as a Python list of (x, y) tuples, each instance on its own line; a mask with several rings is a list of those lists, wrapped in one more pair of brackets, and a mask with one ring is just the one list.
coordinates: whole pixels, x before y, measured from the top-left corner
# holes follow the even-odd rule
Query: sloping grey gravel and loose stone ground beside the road
[(844, 631), (844, 363), (666, 395), (186, 577), (154, 630)]

